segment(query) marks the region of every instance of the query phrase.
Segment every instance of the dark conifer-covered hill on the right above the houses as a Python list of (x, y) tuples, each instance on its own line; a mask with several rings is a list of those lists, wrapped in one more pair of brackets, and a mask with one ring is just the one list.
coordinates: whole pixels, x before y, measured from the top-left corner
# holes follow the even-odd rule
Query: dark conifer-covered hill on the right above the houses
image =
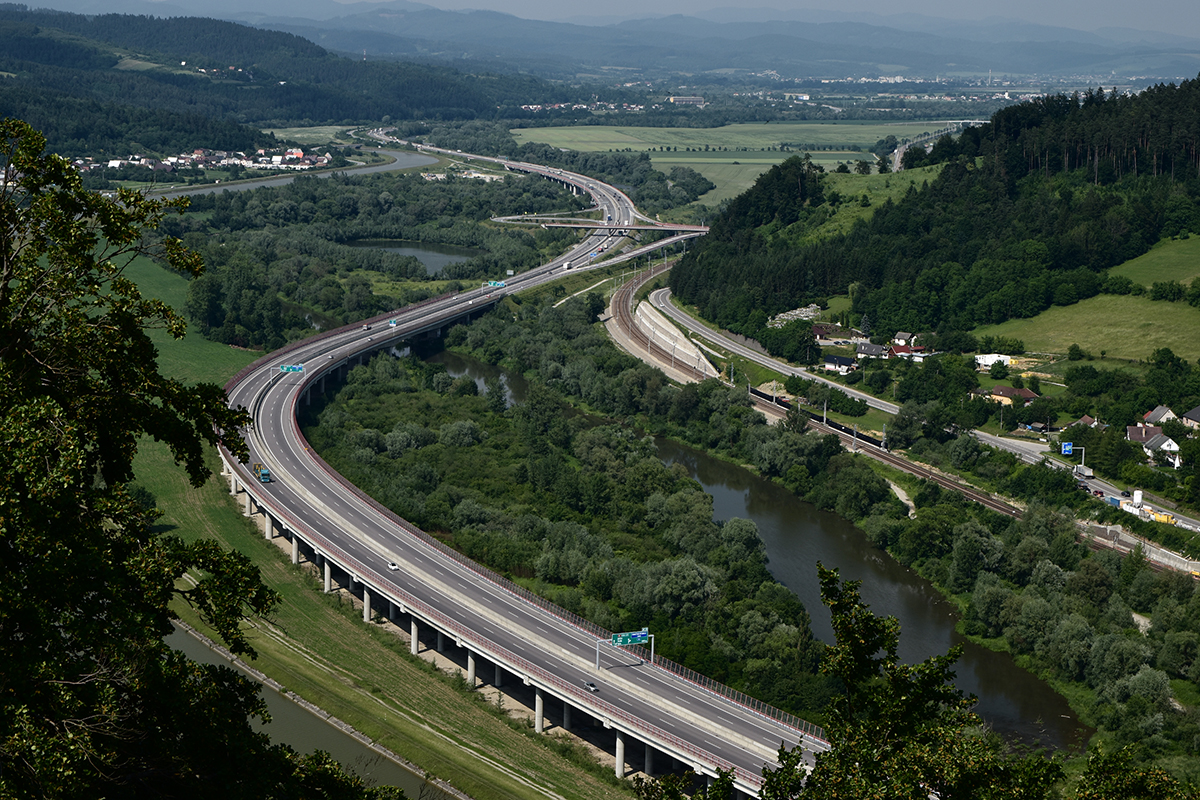
[(796, 180), (818, 168), (793, 158), (728, 205), (672, 285), (750, 336), (768, 314), (847, 291), (881, 333), (971, 330), (1126, 294), (1130, 282), (1108, 267), (1200, 231), (1196, 120), (1200, 79), (1006, 108), (913, 154), (906, 163), (944, 162), (938, 176), (828, 239), (812, 231), (836, 207)]

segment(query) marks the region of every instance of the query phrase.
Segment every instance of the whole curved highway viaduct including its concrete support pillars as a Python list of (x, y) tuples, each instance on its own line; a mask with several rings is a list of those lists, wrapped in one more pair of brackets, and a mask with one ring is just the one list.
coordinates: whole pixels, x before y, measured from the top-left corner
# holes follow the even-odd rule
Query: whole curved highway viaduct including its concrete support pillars
[[(602, 203), (619, 204), (622, 197), (612, 190)], [(630, 218), (631, 212), (622, 217)], [(572, 715), (586, 715), (611, 730), (618, 776), (626, 774), (626, 750), (636, 742), (644, 748), (637, 760), (646, 771), (665, 771), (672, 762), (709, 777), (727, 770), (738, 792), (757, 795), (762, 768), (775, 763), (779, 746), (824, 750), (820, 729), (662, 657), (598, 645), (607, 643), (608, 631), (493, 575), (366, 497), (312, 452), (296, 421), (302, 404), (354, 365), (415, 337), (440, 336), (503, 293), (551, 279), (592, 246), (586, 240), (502, 289), (425, 301), (256, 361), (226, 390), (232, 404), (250, 410), (251, 462), (268, 464), (272, 480), (259, 482), (228, 452), (224, 475), (245, 512), (264, 516), (268, 537), (287, 537), (294, 563), (305, 558), (317, 566), (326, 591), (336, 579), (361, 594), (364, 620), (378, 612), (407, 621), (414, 650), (422, 631), (436, 634), (439, 648), (458, 649), (473, 686), (490, 678), (497, 686), (511, 680), (532, 688), (539, 732), (548, 702), (564, 728)], [(283, 372), (284, 366), (302, 371)]]

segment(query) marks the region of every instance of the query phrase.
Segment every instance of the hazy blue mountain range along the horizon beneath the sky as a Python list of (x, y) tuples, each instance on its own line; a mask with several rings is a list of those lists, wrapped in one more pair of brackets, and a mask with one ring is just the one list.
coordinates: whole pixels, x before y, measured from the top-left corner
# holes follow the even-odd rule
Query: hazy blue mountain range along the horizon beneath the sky
[[(700, 16), (574, 24), (492, 11), (440, 11), (391, 2), (256, 0), (47, 0), (96, 13), (217, 16), (283, 30), (322, 47), (367, 56), (479, 62), (488, 68), (571, 78), (665, 77), (715, 71), (784, 77), (1040, 74), (1193, 78), (1200, 40), (1106, 28), (1080, 31), (1006, 19), (964, 22), (920, 14), (710, 10)], [(124, 5), (122, 5), (124, 4)], [(618, 72), (619, 71), (619, 72)]]

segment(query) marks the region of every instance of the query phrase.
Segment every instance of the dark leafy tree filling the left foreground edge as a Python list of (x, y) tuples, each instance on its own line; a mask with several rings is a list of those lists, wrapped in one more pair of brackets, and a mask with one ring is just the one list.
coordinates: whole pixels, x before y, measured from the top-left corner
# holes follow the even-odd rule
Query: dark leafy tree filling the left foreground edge
[[(0, 121), (0, 796), (361, 796), (251, 728), (248, 680), (163, 642), (181, 597), (252, 654), (241, 622), (278, 599), (245, 557), (154, 529), (128, 486), (137, 443), (166, 443), (198, 486), (205, 445), (246, 456), (248, 417), (158, 372), (146, 330), (182, 320), (122, 276), (176, 204), (88, 193), (43, 149)], [(152, 254), (202, 270), (178, 240)]]

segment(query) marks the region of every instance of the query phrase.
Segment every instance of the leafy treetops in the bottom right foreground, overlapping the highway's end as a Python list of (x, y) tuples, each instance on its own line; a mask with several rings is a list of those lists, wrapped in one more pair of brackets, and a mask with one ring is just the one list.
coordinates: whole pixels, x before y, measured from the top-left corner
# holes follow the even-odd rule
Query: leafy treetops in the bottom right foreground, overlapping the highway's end
[[(805, 766), (800, 748), (780, 748), (779, 768), (763, 770), (762, 800), (1042, 800), (1058, 796), (1057, 760), (1006, 751), (971, 711), (974, 698), (950, 684), (960, 648), (902, 664), (900, 626), (863, 603), (859, 582), (817, 565), (821, 600), (836, 644), (822, 669), (845, 692), (830, 705), (830, 750)], [(643, 796), (647, 796), (643, 794)], [(1139, 768), (1126, 751), (1097, 748), (1074, 792), (1076, 800), (1182, 800), (1187, 789), (1157, 768)]]

